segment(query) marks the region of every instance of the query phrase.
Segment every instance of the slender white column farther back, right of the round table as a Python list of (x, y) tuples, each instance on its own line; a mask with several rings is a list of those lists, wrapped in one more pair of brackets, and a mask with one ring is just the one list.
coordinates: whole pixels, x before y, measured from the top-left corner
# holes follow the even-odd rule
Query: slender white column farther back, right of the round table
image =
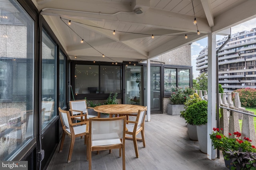
[(147, 121), (150, 121), (150, 59), (147, 60)]

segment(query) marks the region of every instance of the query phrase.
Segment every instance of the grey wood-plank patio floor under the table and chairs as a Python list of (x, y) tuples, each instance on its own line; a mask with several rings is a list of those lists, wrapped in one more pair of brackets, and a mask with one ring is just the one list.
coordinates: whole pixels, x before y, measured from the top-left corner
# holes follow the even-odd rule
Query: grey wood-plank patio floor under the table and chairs
[[(146, 148), (138, 142), (139, 158), (135, 157), (132, 140), (125, 142), (126, 170), (227, 170), (222, 154), (209, 160), (200, 152), (198, 141), (188, 137), (184, 119), (179, 115), (155, 114), (145, 122)], [(76, 139), (71, 162), (67, 163), (70, 139), (66, 137), (61, 153), (56, 150), (47, 170), (87, 170), (84, 139)], [(121, 170), (118, 150), (92, 152), (93, 170)]]

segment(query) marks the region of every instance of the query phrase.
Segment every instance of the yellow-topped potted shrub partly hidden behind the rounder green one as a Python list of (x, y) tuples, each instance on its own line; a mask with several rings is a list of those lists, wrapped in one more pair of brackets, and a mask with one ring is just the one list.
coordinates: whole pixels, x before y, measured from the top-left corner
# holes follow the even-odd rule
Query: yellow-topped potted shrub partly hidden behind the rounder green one
[(186, 120), (187, 127), (188, 127), (188, 136), (193, 141), (198, 141), (196, 125), (193, 124), (192, 117), (188, 117), (186, 113), (187, 113), (188, 106), (190, 106), (190, 105), (192, 105), (196, 102), (199, 102), (201, 100), (202, 99), (196, 93), (194, 93), (193, 95), (190, 95), (188, 100), (184, 103), (184, 105), (185, 105), (184, 109), (185, 110), (180, 112), (180, 117), (182, 117), (183, 119)]

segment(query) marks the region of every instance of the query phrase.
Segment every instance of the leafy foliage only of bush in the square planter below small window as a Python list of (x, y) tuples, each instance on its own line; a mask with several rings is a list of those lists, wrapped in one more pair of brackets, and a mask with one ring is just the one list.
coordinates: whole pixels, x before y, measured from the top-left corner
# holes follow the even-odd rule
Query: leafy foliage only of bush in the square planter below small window
[(171, 104), (184, 104), (191, 94), (193, 94), (192, 88), (174, 88), (170, 97)]

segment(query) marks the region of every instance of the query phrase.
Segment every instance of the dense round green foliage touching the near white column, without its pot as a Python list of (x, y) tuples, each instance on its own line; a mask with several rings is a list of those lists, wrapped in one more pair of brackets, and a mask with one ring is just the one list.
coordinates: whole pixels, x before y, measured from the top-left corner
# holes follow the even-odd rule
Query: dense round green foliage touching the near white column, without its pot
[(207, 101), (201, 100), (186, 110), (186, 119), (193, 125), (204, 125), (207, 123)]

